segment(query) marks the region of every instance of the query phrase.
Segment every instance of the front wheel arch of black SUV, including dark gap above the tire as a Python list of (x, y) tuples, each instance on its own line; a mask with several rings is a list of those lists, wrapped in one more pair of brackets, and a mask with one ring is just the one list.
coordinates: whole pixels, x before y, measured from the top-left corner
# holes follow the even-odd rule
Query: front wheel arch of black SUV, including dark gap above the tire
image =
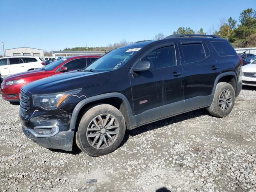
[(97, 96), (92, 96), (80, 101), (74, 108), (70, 120), (70, 130), (75, 130), (77, 120), (82, 114), (92, 105), (96, 104), (110, 104), (120, 110), (124, 116), (127, 129), (130, 129), (135, 124), (135, 118), (132, 114), (132, 108), (128, 102), (128, 99), (121, 93), (107, 93)]

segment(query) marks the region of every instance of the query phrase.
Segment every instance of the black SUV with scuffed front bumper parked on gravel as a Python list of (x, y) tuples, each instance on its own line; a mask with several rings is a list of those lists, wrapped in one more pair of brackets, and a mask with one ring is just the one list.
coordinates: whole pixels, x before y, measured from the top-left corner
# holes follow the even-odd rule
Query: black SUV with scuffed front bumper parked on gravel
[(91, 156), (114, 151), (126, 129), (206, 108), (227, 116), (242, 88), (242, 62), (227, 40), (171, 35), (112, 50), (83, 70), (22, 87), (24, 134), (46, 148)]

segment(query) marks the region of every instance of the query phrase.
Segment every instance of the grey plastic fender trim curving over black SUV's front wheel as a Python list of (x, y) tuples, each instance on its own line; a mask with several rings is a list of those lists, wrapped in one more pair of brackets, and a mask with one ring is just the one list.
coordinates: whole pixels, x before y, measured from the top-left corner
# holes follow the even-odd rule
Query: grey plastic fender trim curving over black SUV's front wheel
[[(132, 108), (131, 108), (131, 106), (128, 102), (128, 99), (123, 94), (118, 93), (118, 92), (114, 92), (114, 93), (106, 93), (106, 94), (92, 96), (92, 97), (89, 97), (89, 98), (86, 98), (86, 99), (80, 101), (75, 106), (75, 108), (72, 112), (69, 130), (70, 131), (75, 130), (75, 128), (76, 128), (76, 119), (77, 119), (77, 116), (78, 116), (78, 114), (79, 114), (79, 112), (80, 112), (80, 110), (82, 109), (83, 106), (85, 106), (86, 104), (88, 104), (90, 102), (94, 102), (94, 101), (101, 100), (101, 99), (106, 99), (106, 98), (111, 98), (111, 97), (117, 97), (117, 98), (122, 99), (122, 101), (124, 103), (124, 106), (125, 106), (125, 108), (128, 112), (128, 116), (129, 116), (128, 118), (130, 120), (130, 127), (133, 127), (134, 124), (136, 123), (136, 121), (135, 121), (135, 117), (132, 114)], [(128, 129), (130, 129), (130, 128), (128, 127)]]

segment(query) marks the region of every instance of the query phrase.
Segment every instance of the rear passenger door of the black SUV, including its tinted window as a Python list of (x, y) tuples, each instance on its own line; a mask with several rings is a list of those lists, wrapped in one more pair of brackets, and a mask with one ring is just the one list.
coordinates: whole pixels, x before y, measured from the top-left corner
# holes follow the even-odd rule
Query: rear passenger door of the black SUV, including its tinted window
[(216, 53), (206, 42), (179, 42), (184, 72), (184, 111), (200, 108), (212, 103), (212, 89), (220, 74)]

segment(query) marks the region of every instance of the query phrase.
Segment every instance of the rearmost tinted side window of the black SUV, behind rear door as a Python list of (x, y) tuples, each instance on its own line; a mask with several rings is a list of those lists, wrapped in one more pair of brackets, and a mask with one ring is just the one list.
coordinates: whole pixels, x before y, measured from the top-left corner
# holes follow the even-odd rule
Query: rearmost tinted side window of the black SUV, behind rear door
[(211, 43), (220, 56), (236, 55), (236, 51), (227, 41), (212, 41)]

